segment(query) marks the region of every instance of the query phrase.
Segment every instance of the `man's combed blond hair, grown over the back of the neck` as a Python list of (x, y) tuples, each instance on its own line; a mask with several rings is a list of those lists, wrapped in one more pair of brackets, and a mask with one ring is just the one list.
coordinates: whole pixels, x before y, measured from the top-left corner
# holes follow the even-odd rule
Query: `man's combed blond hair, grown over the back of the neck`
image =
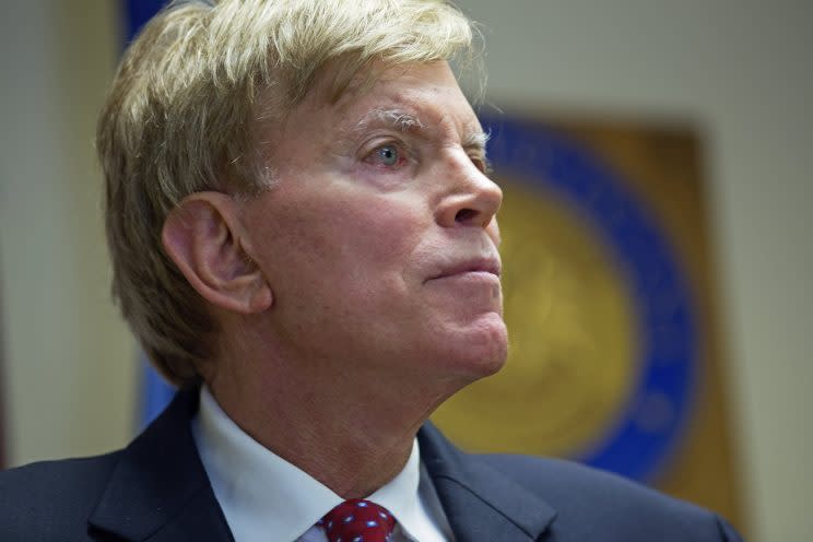
[[(185, 197), (251, 197), (273, 176), (255, 139), (328, 63), (333, 98), (373, 62), (473, 57), (471, 22), (441, 0), (175, 1), (128, 47), (99, 116), (113, 295), (172, 382), (199, 378), (216, 325), (164, 252)], [(332, 72), (331, 72), (332, 73)]]

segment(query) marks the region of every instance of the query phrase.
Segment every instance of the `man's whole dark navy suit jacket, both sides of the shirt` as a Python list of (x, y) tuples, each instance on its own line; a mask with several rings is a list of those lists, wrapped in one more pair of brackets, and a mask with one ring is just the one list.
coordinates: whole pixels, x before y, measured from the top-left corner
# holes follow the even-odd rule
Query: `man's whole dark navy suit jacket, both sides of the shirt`
[[(0, 474), (0, 541), (233, 541), (190, 432), (197, 408), (197, 390), (181, 391), (123, 450)], [(717, 516), (614, 475), (468, 455), (428, 424), (419, 441), (459, 542), (740, 540)]]

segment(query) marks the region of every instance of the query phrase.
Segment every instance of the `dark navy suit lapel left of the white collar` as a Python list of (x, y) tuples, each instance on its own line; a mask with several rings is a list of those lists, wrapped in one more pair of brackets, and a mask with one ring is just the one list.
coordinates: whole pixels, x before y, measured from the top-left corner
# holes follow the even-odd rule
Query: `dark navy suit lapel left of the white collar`
[(123, 450), (90, 518), (92, 531), (130, 541), (234, 541), (192, 439), (197, 409), (197, 389), (178, 392)]

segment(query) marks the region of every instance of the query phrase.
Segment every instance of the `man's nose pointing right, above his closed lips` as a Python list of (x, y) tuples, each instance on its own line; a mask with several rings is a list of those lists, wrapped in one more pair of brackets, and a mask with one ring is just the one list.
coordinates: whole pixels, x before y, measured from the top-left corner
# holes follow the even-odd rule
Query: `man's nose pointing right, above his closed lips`
[(444, 227), (487, 227), (503, 203), (499, 186), (468, 156), (452, 161), (445, 176), (449, 186), (438, 208), (438, 223)]

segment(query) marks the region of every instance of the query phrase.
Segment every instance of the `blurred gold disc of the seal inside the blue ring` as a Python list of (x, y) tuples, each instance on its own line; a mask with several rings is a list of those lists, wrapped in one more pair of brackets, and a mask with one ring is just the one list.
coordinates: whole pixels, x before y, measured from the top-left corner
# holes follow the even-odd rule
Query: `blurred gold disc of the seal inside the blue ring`
[(473, 451), (578, 455), (612, 431), (635, 389), (631, 296), (575, 208), (538, 187), (500, 185), (508, 363), (433, 421)]

